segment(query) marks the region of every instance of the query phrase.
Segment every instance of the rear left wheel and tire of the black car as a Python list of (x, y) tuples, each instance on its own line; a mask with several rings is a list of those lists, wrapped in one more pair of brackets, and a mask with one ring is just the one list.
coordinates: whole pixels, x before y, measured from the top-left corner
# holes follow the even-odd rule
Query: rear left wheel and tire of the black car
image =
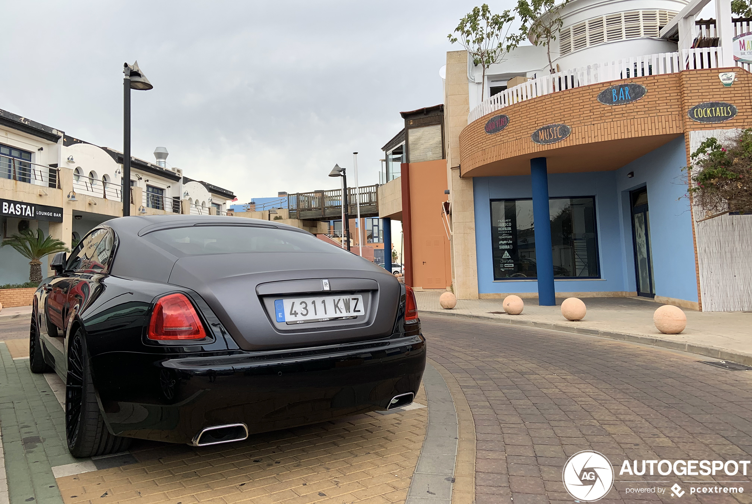
[(65, 437), (74, 457), (94, 457), (125, 451), (130, 438), (113, 436), (105, 425), (92, 383), (86, 339), (77, 329), (68, 343), (65, 380)]

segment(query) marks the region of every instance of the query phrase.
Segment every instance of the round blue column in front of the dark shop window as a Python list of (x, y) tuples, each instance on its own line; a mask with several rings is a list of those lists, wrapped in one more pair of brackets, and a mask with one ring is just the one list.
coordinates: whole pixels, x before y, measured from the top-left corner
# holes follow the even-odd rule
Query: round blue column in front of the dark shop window
[(532, 220), (535, 226), (535, 264), (538, 270), (538, 305), (556, 306), (556, 294), (553, 290), (553, 254), (551, 252), (546, 158), (530, 159), (530, 181), (532, 184)]

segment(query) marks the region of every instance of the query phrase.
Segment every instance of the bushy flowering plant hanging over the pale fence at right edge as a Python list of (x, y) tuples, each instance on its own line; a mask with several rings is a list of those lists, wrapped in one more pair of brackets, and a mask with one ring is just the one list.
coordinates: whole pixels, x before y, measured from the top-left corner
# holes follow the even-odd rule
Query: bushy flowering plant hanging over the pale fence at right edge
[(728, 213), (752, 213), (752, 129), (744, 129), (721, 144), (708, 138), (687, 166), (689, 193), (705, 219)]

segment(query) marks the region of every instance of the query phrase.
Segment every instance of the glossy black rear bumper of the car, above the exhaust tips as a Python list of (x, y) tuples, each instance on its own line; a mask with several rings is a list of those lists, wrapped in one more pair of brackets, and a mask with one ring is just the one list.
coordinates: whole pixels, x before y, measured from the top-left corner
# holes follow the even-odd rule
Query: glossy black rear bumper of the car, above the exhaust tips
[(92, 358), (105, 419), (118, 436), (191, 442), (205, 427), (243, 423), (250, 434), (386, 409), (420, 386), (421, 335), (297, 351)]

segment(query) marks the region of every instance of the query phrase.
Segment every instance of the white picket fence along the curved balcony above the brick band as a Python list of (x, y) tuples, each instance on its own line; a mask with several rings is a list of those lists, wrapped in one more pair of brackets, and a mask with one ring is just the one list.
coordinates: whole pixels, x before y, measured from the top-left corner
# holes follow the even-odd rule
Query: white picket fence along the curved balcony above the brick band
[(571, 90), (609, 80), (622, 80), (645, 75), (674, 74), (682, 70), (719, 68), (723, 57), (720, 47), (688, 49), (680, 53), (648, 54), (617, 61), (596, 63), (581, 68), (559, 71), (518, 84), (490, 96), (468, 114), (468, 124), (502, 108), (538, 96)]

